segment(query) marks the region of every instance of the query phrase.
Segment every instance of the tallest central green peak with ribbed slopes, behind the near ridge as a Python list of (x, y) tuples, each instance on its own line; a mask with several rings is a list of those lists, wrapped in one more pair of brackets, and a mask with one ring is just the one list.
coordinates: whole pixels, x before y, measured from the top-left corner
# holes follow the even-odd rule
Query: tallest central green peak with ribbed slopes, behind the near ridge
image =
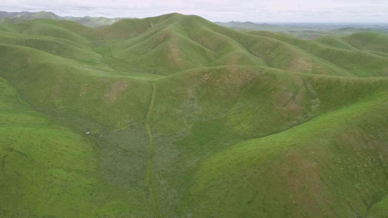
[(173, 14), (173, 17), (139, 37), (116, 43), (112, 47), (112, 55), (163, 74), (193, 67), (239, 64), (305, 73), (351, 75), (288, 43), (247, 35), (201, 17), (181, 14)]

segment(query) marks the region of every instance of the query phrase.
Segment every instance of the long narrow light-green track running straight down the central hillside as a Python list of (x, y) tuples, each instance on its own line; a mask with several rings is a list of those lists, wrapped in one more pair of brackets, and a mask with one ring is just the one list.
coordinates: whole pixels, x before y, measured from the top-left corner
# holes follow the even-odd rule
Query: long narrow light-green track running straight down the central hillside
[(151, 194), (152, 201), (154, 202), (154, 208), (155, 208), (155, 215), (156, 218), (162, 218), (162, 213), (160, 211), (160, 205), (158, 201), (158, 196), (156, 194), (155, 189), (155, 180), (154, 180), (154, 144), (152, 141), (152, 134), (151, 134), (151, 128), (149, 127), (149, 118), (151, 117), (152, 108), (154, 107), (155, 102), (155, 95), (156, 95), (156, 86), (154, 82), (151, 81), (152, 84), (152, 95), (151, 95), (151, 101), (149, 102), (149, 107), (147, 111), (147, 116), (145, 118), (145, 129), (148, 133), (149, 138), (149, 160), (148, 160), (148, 168), (147, 168), (147, 178), (149, 183), (149, 191)]

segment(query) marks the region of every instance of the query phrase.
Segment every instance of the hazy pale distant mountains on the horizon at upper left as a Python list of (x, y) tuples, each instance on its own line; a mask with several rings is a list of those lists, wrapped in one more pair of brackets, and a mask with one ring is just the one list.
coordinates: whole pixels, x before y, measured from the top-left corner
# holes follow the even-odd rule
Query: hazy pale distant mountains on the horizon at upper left
[(98, 26), (105, 26), (105, 25), (111, 25), (114, 24), (117, 21), (120, 21), (122, 19), (138, 19), (136, 17), (116, 17), (116, 18), (108, 18), (108, 17), (72, 17), (72, 16), (66, 16), (61, 17), (53, 12), (46, 12), (46, 11), (39, 11), (39, 12), (28, 12), (28, 11), (22, 11), (22, 12), (6, 12), (6, 11), (0, 11), (0, 19), (2, 18), (9, 18), (13, 21), (16, 21), (17, 19), (23, 19), (23, 20), (33, 20), (33, 19), (53, 19), (53, 20), (69, 20), (69, 21), (75, 21), (82, 25), (88, 26), (88, 27), (98, 27)]

